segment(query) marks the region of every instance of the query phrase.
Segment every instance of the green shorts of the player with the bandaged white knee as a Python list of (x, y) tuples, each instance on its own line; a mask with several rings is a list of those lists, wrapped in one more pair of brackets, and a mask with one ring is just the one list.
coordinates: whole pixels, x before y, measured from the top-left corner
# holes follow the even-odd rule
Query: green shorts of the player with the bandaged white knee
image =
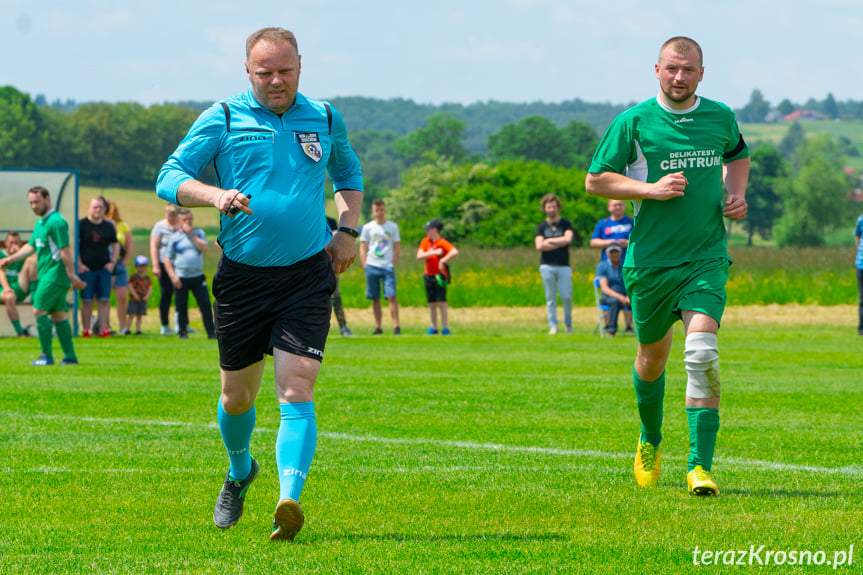
[(661, 340), (683, 310), (709, 315), (721, 324), (730, 264), (715, 258), (671, 268), (623, 268), (639, 343)]

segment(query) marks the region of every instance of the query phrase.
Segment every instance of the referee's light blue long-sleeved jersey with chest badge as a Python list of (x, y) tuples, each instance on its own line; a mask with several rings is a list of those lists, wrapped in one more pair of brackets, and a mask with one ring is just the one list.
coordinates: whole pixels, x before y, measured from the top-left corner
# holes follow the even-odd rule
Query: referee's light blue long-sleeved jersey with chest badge
[[(206, 110), (159, 172), (156, 192), (171, 203), (186, 180), (213, 162), (217, 185), (251, 196), (249, 207), (222, 216), (219, 245), (242, 264), (287, 266), (324, 249), (331, 237), (324, 213), (324, 180), (336, 191), (363, 189), (359, 160), (345, 122), (330, 106), (297, 93), (281, 117), (261, 106), (249, 89)], [(179, 205), (179, 204), (178, 204)]]

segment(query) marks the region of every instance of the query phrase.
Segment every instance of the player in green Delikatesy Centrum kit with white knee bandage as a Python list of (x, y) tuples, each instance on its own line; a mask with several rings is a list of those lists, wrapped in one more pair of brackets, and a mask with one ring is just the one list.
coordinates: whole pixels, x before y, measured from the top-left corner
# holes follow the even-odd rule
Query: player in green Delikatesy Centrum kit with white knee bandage
[(659, 94), (612, 122), (585, 185), (590, 194), (631, 200), (635, 208), (623, 279), (638, 336), (636, 481), (652, 487), (659, 480), (665, 364), (672, 325), (682, 320), (687, 484), (690, 494), (716, 495), (710, 471), (719, 430), (717, 333), (731, 263), (722, 218), (746, 217), (749, 149), (731, 109), (695, 95), (704, 76), (698, 43), (671, 38), (662, 45), (655, 71)]

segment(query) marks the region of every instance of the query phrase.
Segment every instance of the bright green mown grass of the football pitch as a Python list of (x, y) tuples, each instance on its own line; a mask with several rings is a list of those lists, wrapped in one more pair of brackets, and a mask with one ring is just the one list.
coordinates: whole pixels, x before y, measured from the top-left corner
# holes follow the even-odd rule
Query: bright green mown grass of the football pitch
[(685, 491), (680, 332), (653, 490), (631, 471), (632, 338), (600, 340), (583, 324), (549, 337), (541, 311), (536, 322), (454, 318), (450, 338), (331, 337), (294, 544), (268, 541), (271, 368), (252, 439), (262, 475), (243, 520), (220, 531), (213, 342), (79, 339), (82, 365), (37, 369), (35, 341), (3, 340), (0, 573), (678, 574), (730, 571), (693, 565), (696, 547), (751, 545), (762, 561), (809, 551), (824, 564), (740, 572), (828, 572), (854, 545), (837, 571), (859, 573), (863, 338), (780, 315), (729, 320), (721, 334), (722, 494), (709, 500)]

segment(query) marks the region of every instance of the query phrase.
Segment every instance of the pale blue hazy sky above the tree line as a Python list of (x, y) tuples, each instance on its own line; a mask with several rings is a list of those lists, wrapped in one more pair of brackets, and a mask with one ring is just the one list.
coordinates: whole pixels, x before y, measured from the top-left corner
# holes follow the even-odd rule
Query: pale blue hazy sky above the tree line
[[(49, 100), (213, 101), (248, 85), (246, 36), (293, 30), (312, 97), (627, 103), (653, 96), (673, 35), (705, 53), (699, 93), (863, 100), (860, 0), (0, 0), (0, 85)], [(254, 8), (254, 9), (253, 9)]]

